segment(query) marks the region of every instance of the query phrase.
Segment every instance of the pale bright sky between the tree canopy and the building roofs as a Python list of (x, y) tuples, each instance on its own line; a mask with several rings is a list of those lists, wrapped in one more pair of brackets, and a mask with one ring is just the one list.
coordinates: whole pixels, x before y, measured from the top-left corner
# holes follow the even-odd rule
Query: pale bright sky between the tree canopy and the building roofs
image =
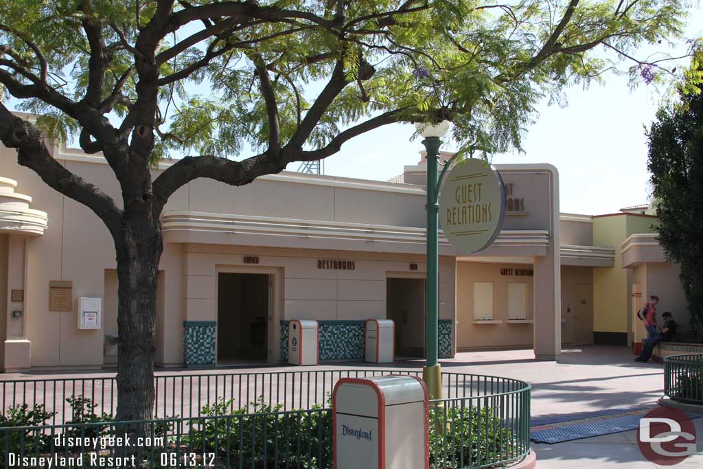
[[(703, 35), (703, 10), (692, 10), (688, 37)], [(681, 49), (679, 49), (681, 51)], [(669, 52), (672, 55), (676, 51)], [(638, 58), (646, 54), (638, 55)], [(662, 94), (653, 85), (628, 87), (628, 77), (605, 76), (606, 84), (567, 90), (568, 105), (540, 103), (535, 123), (527, 129), (524, 153), (494, 155), (492, 162), (550, 163), (560, 176), (560, 211), (607, 214), (647, 203), (648, 128)], [(325, 174), (386, 181), (416, 165), (420, 139), (409, 141), (411, 124), (392, 124), (356, 137), (324, 160)], [(458, 148), (445, 144), (441, 150)], [(299, 164), (290, 165), (297, 169)]]

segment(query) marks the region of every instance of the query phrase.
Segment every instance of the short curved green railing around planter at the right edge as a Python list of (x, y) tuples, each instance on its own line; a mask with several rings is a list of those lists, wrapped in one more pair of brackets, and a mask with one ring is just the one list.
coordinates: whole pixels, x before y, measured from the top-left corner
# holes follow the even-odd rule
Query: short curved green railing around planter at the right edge
[(687, 404), (703, 404), (703, 354), (664, 357), (664, 395)]

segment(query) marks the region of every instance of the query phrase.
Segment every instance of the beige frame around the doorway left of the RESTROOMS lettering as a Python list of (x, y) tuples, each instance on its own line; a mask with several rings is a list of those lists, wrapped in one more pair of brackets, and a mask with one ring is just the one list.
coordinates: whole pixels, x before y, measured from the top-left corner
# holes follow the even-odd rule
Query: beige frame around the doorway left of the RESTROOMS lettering
[[(283, 268), (276, 266), (243, 266), (243, 265), (215, 265), (215, 321), (219, 318), (219, 274), (259, 274), (269, 277), (269, 311), (266, 318), (266, 363), (278, 363), (280, 357), (280, 320), (283, 318)], [(215, 366), (218, 365), (218, 344), (217, 331), (219, 323), (215, 330)]]

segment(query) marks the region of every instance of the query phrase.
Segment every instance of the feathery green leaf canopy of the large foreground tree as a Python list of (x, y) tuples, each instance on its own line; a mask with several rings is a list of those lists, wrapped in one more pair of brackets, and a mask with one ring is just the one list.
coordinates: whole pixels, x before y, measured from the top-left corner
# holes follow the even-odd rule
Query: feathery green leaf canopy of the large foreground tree
[[(218, 3), (176, 2), (171, 15)], [(344, 2), (337, 11), (337, 2), (330, 1), (260, 1), (252, 8), (299, 14), (285, 20), (244, 16), (235, 23), (238, 27), (187, 44), (182, 41), (204, 26), (197, 17), (174, 22), (156, 51), (158, 72), (162, 79), (180, 74), (157, 91), (152, 163), (171, 153), (231, 157), (245, 145), (266, 149), (271, 129), (257, 60), (268, 68), (284, 144), (341, 61), (346, 85), (314, 122), (306, 148), (325, 146), (345, 127), (391, 112), (392, 120), (401, 122), (449, 117), (459, 145), (476, 146), (484, 155), (520, 148), (538, 100), (550, 96), (563, 102), (565, 86), (601, 80), (604, 70), (621, 65), (638, 46), (680, 37), (688, 8), (683, 0), (580, 2), (553, 37), (568, 4), (378, 0)], [(0, 56), (14, 65), (0, 68), (18, 82), (32, 84), (41, 73), (36, 46), (46, 60), (48, 84), (81, 101), (91, 68), (96, 68), (86, 30), (97, 27), (105, 47), (104, 100), (136, 65), (130, 48), (147, 30), (156, 5), (0, 0), (0, 42), (5, 44)], [(321, 23), (339, 13), (340, 25)], [(207, 18), (202, 21), (209, 24)], [(174, 49), (179, 43), (183, 47)], [(604, 43), (610, 55), (595, 56), (592, 51)], [(213, 52), (217, 54), (208, 56)], [(365, 65), (373, 66), (373, 74), (365, 75)], [(638, 65), (627, 70), (631, 77), (639, 77)], [(658, 73), (653, 79), (665, 76)], [(6, 80), (9, 75), (0, 77), (0, 82)], [(112, 122), (121, 122), (134, 105), (137, 82), (132, 73), (119, 89), (122, 96), (109, 112)], [(15, 94), (18, 108), (41, 115), (39, 125), (50, 136), (75, 138), (84, 127), (48, 105), (44, 95), (20, 95)]]

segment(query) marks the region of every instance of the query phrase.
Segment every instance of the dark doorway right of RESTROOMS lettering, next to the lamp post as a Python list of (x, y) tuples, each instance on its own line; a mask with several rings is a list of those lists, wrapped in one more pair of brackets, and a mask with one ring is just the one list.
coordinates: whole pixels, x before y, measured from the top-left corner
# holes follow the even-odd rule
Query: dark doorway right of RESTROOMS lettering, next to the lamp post
[(386, 317), (395, 322), (396, 356), (425, 356), (425, 279), (387, 278)]

